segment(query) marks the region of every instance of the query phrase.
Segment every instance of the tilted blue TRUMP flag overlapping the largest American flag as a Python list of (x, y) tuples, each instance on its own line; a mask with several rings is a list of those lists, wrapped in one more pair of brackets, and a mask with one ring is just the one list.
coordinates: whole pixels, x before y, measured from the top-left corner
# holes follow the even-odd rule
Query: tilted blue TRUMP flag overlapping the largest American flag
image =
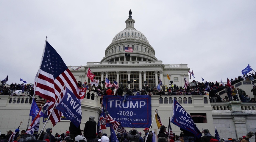
[(80, 126), (82, 119), (81, 102), (68, 88), (56, 109), (63, 113), (76, 127)]

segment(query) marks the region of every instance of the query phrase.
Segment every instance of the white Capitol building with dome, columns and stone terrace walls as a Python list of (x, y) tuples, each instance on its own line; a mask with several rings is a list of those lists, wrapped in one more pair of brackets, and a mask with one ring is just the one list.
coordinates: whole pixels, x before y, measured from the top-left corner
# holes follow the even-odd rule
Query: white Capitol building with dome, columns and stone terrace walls
[[(84, 67), (73, 70), (77, 67), (68, 67), (73, 73), (77, 81), (84, 83), (90, 82), (88, 79), (88, 69), (95, 75), (95, 80), (105, 82), (107, 77), (111, 83), (116, 80), (122, 86), (128, 86), (133, 89), (140, 89), (145, 85), (145, 81), (149, 88), (158, 85), (159, 77), (164, 85), (169, 87), (167, 75), (173, 80), (173, 84), (184, 86), (185, 76), (188, 79), (187, 64), (163, 64), (157, 60), (154, 48), (149, 44), (146, 36), (134, 28), (135, 20), (132, 19), (131, 11), (129, 17), (125, 20), (126, 28), (117, 33), (111, 44), (105, 50), (105, 57), (101, 62), (87, 62)], [(125, 55), (125, 47), (131, 47), (133, 52), (130, 56)], [(130, 82), (128, 84), (128, 81)], [(255, 82), (255, 80), (253, 80)], [(235, 87), (242, 88), (249, 94), (253, 81), (241, 81), (235, 84)], [(100, 84), (105, 87), (104, 84)], [(248, 93), (247, 93), (248, 92)], [(226, 93), (223, 94), (227, 95)], [(97, 121), (101, 113), (101, 96), (95, 92), (86, 91), (85, 98), (81, 102), (82, 121), (80, 128), (84, 129), (85, 122), (89, 120), (89, 116), (95, 116)], [(224, 98), (224, 97), (222, 97)], [(37, 98), (40, 100), (39, 98)], [(151, 96), (151, 113), (154, 119), (155, 110), (161, 117), (162, 123), (168, 126), (169, 117), (172, 116), (172, 103), (177, 99), (179, 104), (191, 115), (199, 130), (208, 129), (211, 135), (214, 135), (215, 126), (221, 138), (239, 138), (246, 135), (247, 132), (256, 132), (256, 103), (241, 103), (240, 101), (230, 101), (228, 103), (210, 103), (209, 96), (192, 95), (192, 96)], [(21, 121), (20, 130), (26, 130), (28, 125), (29, 111), (31, 104), (29, 96), (1, 96), (0, 97), (0, 130), (2, 133), (18, 128)], [(108, 110), (110, 112), (110, 110)], [(43, 119), (43, 118), (42, 118)], [(42, 119), (40, 120), (40, 130), (43, 127)], [(31, 123), (31, 121), (30, 121)], [(29, 123), (29, 125), (30, 125)], [(51, 122), (46, 124), (46, 128), (53, 128), (53, 134), (56, 132), (61, 134), (69, 130), (69, 120), (61, 120), (53, 128)], [(180, 134), (179, 127), (171, 124), (172, 130), (176, 135)], [(46, 129), (45, 128), (45, 129)], [(130, 128), (126, 128), (129, 130)], [(143, 132), (144, 128), (137, 128)], [(157, 129), (154, 120), (152, 130)], [(110, 135), (110, 129), (103, 130), (103, 133)], [(255, 140), (255, 136), (251, 141)]]

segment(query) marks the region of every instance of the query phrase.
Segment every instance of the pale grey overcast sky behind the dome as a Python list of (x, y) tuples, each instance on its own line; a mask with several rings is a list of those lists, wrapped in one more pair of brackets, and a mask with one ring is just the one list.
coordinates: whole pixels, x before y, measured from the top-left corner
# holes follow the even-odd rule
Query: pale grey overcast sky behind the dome
[[(67, 66), (100, 62), (129, 9), (163, 64), (223, 82), (256, 70), (256, 1), (0, 1), (0, 80), (33, 83), (47, 41)], [(193, 78), (193, 77), (192, 77)]]

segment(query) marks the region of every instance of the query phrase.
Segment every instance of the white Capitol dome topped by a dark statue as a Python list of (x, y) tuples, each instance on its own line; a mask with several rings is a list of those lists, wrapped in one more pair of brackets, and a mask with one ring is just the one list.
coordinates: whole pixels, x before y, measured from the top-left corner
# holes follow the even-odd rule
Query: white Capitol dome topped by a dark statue
[[(125, 23), (126, 28), (114, 36), (101, 62), (157, 61), (155, 51), (146, 36), (134, 28), (135, 20), (132, 19), (131, 12)], [(125, 52), (125, 47), (131, 47), (133, 52)], [(129, 57), (125, 57), (125, 53)]]

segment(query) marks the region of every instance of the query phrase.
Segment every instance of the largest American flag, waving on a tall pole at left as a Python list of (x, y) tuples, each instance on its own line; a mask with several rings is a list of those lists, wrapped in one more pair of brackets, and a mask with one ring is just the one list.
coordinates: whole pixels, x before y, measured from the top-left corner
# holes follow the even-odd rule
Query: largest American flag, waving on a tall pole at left
[[(78, 95), (79, 87), (74, 75), (63, 62), (57, 51), (46, 41), (42, 63), (38, 71), (35, 94), (50, 101), (49, 112), (52, 111), (58, 96), (60, 96), (59, 102), (65, 94), (65, 89), (63, 89), (63, 92), (60, 94), (64, 85), (80, 99)], [(50, 116), (53, 126), (56, 125), (57, 122), (60, 122), (60, 117), (61, 112), (57, 109), (53, 109)]]

